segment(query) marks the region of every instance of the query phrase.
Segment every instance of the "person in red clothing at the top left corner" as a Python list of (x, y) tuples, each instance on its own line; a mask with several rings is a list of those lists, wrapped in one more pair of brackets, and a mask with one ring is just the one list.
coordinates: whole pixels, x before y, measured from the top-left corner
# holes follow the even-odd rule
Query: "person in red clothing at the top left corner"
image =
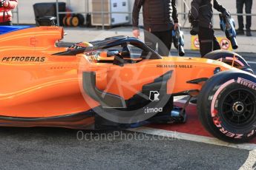
[(12, 11), (18, 5), (18, 0), (1, 0), (0, 1), (0, 25), (11, 26), (12, 24)]

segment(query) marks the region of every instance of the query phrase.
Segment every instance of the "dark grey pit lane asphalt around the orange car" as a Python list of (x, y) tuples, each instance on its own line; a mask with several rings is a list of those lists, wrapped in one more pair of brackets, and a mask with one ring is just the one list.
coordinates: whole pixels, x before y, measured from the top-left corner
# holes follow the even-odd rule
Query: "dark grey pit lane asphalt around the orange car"
[[(255, 54), (242, 55), (256, 72)], [(134, 132), (83, 131), (84, 140), (77, 132), (1, 127), (0, 169), (239, 169), (249, 157), (242, 149)], [(245, 169), (256, 169), (256, 157), (249, 162)]]

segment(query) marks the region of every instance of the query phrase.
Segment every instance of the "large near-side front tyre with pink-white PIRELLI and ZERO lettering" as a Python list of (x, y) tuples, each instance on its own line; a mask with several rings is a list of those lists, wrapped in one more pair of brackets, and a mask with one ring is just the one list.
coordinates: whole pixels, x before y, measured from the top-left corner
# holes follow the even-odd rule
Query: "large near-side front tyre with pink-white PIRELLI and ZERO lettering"
[(206, 81), (197, 112), (211, 135), (244, 143), (256, 135), (256, 77), (246, 72), (220, 72)]

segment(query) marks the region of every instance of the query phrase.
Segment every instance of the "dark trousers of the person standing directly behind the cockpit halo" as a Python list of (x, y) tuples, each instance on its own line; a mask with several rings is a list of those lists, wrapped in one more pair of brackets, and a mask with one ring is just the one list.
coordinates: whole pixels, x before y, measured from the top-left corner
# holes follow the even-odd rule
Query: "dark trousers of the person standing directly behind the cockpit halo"
[(156, 50), (158, 44), (158, 53), (162, 56), (168, 56), (171, 50), (172, 36), (171, 29), (161, 32), (144, 32), (145, 44)]

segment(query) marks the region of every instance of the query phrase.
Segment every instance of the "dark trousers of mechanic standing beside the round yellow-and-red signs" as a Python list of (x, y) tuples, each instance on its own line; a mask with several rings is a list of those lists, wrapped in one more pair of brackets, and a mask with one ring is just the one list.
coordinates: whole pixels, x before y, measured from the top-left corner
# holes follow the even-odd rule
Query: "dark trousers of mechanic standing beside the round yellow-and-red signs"
[(202, 57), (214, 50), (220, 50), (220, 44), (214, 35), (213, 29), (199, 27), (198, 38), (200, 43), (200, 54)]

